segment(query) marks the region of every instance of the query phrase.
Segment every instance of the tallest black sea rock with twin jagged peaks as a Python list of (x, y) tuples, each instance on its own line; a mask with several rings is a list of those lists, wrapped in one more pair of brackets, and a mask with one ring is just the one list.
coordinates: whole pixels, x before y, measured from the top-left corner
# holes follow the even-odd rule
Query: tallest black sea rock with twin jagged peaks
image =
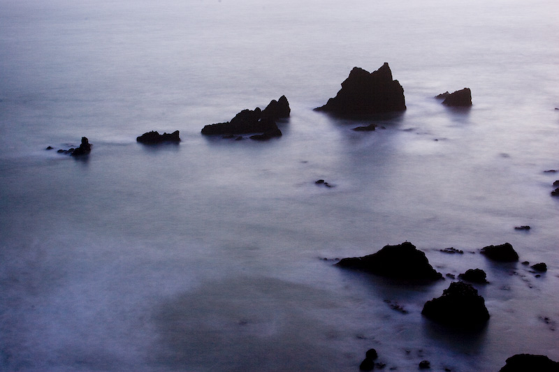
[(404, 89), (398, 80), (392, 79), (392, 71), (386, 62), (372, 73), (354, 67), (335, 98), (330, 98), (326, 105), (314, 110), (331, 112), (340, 117), (367, 117), (404, 111)]

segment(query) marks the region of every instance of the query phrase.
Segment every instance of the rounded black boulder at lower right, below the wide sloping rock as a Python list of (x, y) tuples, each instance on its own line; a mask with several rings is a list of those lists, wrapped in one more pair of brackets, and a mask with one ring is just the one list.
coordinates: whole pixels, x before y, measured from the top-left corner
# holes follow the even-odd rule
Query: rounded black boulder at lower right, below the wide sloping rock
[(461, 281), (450, 283), (441, 297), (426, 302), (421, 314), (443, 325), (465, 329), (483, 326), (489, 319), (484, 297)]

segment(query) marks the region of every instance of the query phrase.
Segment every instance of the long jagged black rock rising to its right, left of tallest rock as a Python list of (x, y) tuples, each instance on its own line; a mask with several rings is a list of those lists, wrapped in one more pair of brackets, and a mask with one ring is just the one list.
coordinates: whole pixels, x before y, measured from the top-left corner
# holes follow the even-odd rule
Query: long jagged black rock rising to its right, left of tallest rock
[(233, 137), (242, 133), (262, 133), (250, 138), (252, 140), (269, 140), (282, 135), (275, 121), (289, 117), (290, 112), (287, 98), (281, 96), (278, 101), (271, 101), (264, 110), (260, 110), (259, 107), (254, 110), (242, 110), (231, 121), (204, 126), (202, 134)]

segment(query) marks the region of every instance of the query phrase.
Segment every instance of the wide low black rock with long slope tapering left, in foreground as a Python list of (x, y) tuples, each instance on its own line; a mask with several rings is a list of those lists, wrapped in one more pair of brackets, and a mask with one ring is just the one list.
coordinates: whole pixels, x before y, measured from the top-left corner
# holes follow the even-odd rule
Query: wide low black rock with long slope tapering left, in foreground
[(413, 281), (436, 281), (442, 274), (433, 269), (425, 253), (409, 242), (384, 246), (377, 253), (358, 258), (344, 258), (339, 267), (367, 271), (371, 274)]

